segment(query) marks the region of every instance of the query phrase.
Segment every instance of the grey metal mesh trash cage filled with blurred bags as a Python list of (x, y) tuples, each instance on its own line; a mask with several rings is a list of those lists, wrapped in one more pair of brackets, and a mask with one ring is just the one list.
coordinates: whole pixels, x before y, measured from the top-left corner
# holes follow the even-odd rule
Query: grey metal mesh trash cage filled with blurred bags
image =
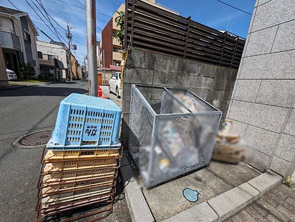
[(132, 85), (128, 151), (146, 187), (207, 165), (221, 116), (187, 89)]

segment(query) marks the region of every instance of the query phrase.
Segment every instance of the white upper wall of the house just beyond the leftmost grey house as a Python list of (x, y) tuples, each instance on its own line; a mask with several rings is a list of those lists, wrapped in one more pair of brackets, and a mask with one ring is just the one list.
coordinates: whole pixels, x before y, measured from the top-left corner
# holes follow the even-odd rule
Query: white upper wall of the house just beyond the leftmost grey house
[[(58, 60), (63, 63), (64, 68), (68, 68), (66, 61), (66, 50), (61, 45), (51, 44), (45, 41), (36, 41), (37, 51), (42, 52), (42, 54), (58, 56)], [(62, 70), (62, 79), (66, 79), (65, 70)]]

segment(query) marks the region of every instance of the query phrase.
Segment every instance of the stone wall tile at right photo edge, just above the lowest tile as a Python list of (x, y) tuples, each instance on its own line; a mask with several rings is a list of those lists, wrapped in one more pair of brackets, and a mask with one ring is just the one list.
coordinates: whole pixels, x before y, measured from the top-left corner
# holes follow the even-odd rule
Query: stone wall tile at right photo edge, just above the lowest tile
[(295, 156), (295, 136), (282, 133), (281, 139), (275, 151), (275, 155), (282, 159), (292, 161)]

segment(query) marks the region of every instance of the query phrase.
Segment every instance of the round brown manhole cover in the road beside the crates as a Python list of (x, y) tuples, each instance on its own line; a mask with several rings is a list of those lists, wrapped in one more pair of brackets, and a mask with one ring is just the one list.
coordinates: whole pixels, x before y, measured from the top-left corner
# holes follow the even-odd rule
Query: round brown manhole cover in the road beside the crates
[(14, 141), (13, 145), (21, 148), (37, 148), (45, 145), (50, 137), (52, 130), (41, 130), (29, 133)]

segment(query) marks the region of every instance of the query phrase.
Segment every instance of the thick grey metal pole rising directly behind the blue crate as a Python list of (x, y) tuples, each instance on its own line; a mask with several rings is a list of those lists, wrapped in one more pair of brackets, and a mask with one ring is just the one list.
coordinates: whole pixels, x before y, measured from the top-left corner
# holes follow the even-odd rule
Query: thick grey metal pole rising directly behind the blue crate
[(89, 95), (97, 96), (95, 0), (85, 0)]

